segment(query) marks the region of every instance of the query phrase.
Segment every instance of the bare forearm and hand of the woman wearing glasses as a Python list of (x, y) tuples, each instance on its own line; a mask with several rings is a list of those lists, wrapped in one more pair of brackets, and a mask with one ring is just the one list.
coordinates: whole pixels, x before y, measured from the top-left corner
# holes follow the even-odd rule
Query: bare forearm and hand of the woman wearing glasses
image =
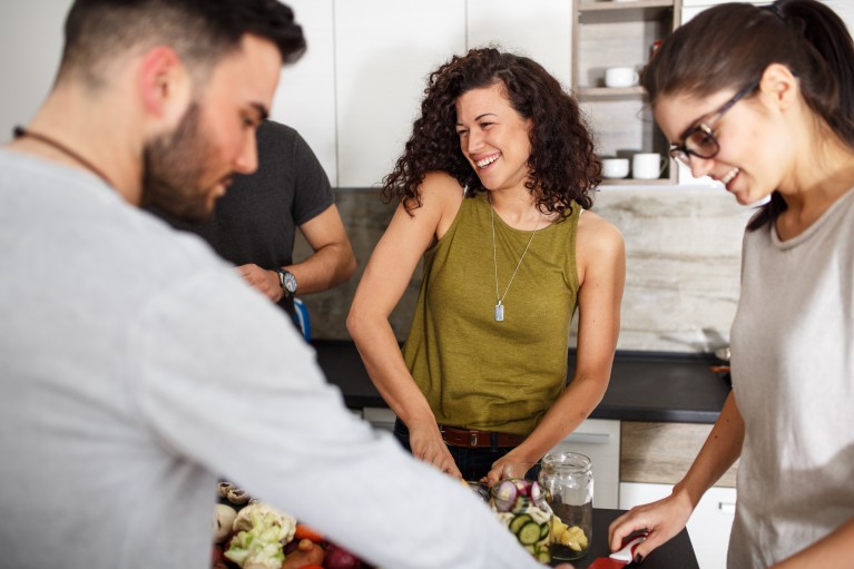
[(724, 409), (720, 410), (720, 416), (685, 478), (674, 487), (673, 493), (667, 498), (638, 506), (617, 518), (608, 531), (611, 549), (619, 549), (622, 538), (632, 531), (647, 529), (647, 540), (636, 550), (641, 557), (646, 557), (679, 533), (688, 523), (688, 518), (706, 490), (717, 482), (742, 454), (743, 441), (744, 420), (735, 396), (729, 393)]

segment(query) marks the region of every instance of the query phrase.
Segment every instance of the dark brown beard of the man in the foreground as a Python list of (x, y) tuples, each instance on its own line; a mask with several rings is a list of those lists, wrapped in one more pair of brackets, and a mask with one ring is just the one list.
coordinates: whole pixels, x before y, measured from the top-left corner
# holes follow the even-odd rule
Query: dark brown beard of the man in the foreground
[(209, 144), (199, 125), (199, 107), (193, 102), (175, 131), (146, 145), (143, 154), (143, 205), (188, 222), (203, 222), (210, 217), (210, 188), (200, 187)]

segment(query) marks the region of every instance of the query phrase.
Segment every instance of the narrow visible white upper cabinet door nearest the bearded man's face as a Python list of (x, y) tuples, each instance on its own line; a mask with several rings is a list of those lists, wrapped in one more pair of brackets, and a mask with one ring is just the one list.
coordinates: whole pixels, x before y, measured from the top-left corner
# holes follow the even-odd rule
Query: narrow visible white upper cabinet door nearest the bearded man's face
[(335, 187), (338, 173), (332, 0), (288, 0), (287, 4), (303, 27), (307, 50), (300, 61), (282, 69), (271, 118), (300, 131)]

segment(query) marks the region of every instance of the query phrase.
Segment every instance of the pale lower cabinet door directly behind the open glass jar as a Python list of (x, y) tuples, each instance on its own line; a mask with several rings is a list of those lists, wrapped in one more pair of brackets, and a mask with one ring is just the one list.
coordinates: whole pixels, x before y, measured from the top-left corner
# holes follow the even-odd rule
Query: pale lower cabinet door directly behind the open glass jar
[(620, 422), (588, 419), (552, 451), (580, 452), (593, 472), (593, 507), (617, 508), (620, 479)]

